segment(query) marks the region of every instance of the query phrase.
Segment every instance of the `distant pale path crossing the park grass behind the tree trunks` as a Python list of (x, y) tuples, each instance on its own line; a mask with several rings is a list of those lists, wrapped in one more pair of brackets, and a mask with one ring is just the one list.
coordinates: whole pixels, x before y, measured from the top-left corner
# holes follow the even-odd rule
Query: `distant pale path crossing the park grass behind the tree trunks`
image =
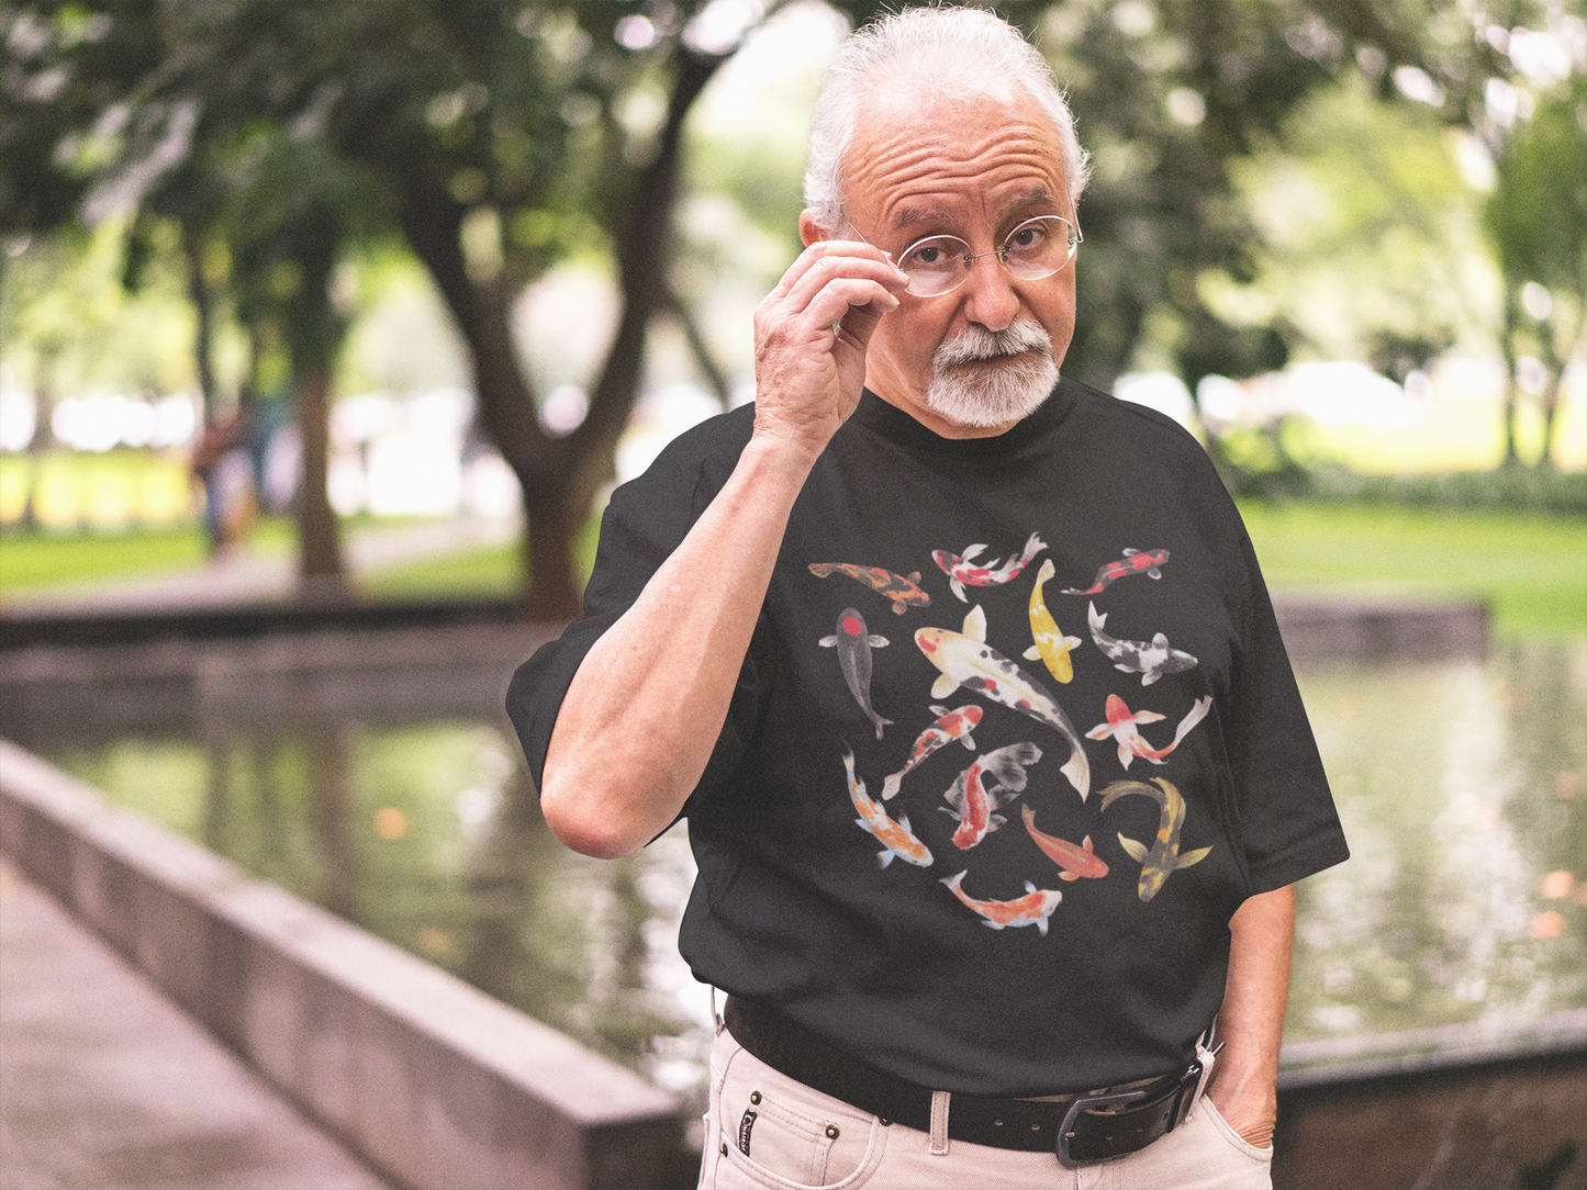
[[(428, 520), (408, 525), (370, 525), (343, 539), (349, 578), (384, 566), (440, 559), (517, 538), (516, 520)], [(10, 611), (22, 612), (144, 612), (233, 608), (243, 603), (287, 601), (297, 590), (297, 555), (238, 554), (176, 573), (29, 587), (5, 597)]]

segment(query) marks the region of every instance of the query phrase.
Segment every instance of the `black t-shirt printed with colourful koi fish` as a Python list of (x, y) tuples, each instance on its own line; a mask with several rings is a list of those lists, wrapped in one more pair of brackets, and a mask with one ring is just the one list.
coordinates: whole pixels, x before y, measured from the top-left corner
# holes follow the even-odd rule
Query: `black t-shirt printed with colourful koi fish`
[[(586, 617), (508, 693), (536, 781), (579, 662), (751, 428), (716, 417), (614, 492)], [(794, 506), (684, 814), (698, 979), (971, 1095), (1173, 1069), (1217, 1012), (1239, 903), (1347, 855), (1205, 452), (1070, 379), (978, 440), (862, 397)]]

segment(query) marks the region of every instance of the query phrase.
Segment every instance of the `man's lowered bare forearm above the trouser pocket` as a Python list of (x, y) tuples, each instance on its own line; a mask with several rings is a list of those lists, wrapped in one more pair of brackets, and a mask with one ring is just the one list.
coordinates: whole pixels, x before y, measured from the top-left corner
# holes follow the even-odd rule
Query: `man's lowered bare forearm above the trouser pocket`
[(1295, 944), (1295, 885), (1249, 898), (1228, 922), (1228, 982), (1217, 1014), (1217, 1055), (1208, 1090), (1219, 1112), (1257, 1147), (1273, 1142), (1279, 1044)]

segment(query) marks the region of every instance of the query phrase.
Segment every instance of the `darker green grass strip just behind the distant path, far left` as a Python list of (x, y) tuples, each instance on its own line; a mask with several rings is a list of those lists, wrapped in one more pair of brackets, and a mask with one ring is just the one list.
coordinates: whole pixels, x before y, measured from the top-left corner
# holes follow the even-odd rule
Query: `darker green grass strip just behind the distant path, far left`
[[(254, 525), (248, 549), (282, 554), (292, 547), (290, 520), (267, 517)], [(202, 566), (205, 535), (198, 525), (127, 533), (8, 533), (0, 536), (0, 593), (57, 582), (92, 582)]]

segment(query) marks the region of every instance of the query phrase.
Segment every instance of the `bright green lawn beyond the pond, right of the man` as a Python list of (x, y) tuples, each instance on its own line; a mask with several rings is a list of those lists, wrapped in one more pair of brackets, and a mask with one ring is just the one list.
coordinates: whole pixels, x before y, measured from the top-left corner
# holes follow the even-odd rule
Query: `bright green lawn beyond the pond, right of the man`
[(1587, 519), (1243, 501), (1268, 585), (1487, 601), (1498, 631), (1587, 631)]

